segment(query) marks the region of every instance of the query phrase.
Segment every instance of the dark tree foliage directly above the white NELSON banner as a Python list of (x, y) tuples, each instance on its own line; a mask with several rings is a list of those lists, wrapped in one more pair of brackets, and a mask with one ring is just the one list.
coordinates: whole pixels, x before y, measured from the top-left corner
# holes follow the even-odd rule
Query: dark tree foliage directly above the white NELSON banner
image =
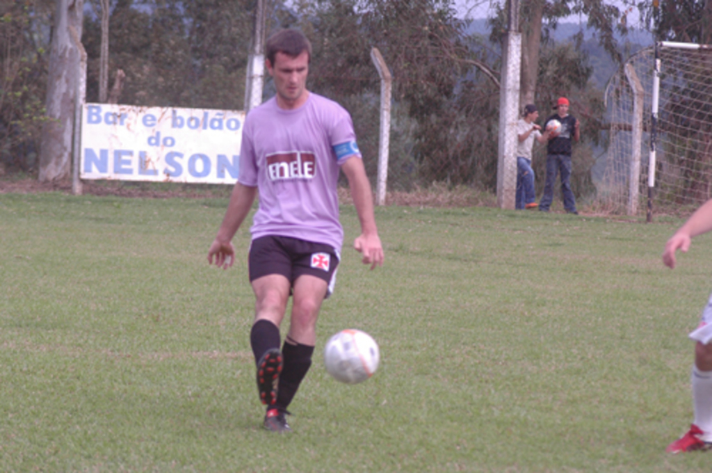
[[(110, 71), (126, 73), (121, 103), (244, 106), (250, 0), (117, 0), (110, 16)], [(100, 22), (87, 17), (88, 100), (98, 98)], [(110, 77), (112, 77), (110, 73)]]

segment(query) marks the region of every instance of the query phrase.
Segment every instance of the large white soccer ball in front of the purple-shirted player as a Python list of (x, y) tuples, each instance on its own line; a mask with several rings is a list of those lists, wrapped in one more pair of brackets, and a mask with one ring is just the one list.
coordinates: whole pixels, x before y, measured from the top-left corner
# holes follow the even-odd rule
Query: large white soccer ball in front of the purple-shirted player
[(347, 328), (333, 337), (324, 347), (324, 365), (337, 381), (362, 383), (378, 368), (379, 350), (376, 341), (366, 332)]

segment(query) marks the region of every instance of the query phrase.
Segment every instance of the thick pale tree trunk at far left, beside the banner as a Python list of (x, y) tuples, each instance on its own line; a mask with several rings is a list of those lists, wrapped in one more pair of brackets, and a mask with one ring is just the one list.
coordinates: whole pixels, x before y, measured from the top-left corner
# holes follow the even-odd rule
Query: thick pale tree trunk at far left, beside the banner
[(49, 56), (46, 108), (42, 133), (39, 180), (62, 180), (72, 169), (74, 98), (79, 79), (80, 52), (69, 28), (82, 34), (84, 0), (57, 0)]

